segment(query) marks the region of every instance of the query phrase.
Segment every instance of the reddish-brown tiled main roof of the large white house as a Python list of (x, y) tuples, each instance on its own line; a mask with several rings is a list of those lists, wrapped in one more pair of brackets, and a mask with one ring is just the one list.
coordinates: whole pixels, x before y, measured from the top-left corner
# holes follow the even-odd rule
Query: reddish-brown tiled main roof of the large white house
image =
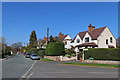
[[(88, 34), (91, 36), (92, 39), (97, 39), (98, 36), (102, 33), (102, 31), (105, 29), (106, 27), (101, 27), (101, 28), (97, 28), (94, 29), (92, 31), (84, 31), (84, 32), (80, 32), (78, 33), (78, 35), (80, 36), (81, 39), (84, 38), (85, 34), (88, 32)], [(77, 36), (77, 35), (76, 35)], [(75, 37), (76, 38), (76, 37)], [(72, 42), (74, 42), (75, 38), (72, 40)]]

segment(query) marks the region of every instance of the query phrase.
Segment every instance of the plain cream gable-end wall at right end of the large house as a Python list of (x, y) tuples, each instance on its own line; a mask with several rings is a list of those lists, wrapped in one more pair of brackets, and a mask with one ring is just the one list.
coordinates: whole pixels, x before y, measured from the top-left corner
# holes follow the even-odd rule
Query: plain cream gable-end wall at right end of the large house
[[(112, 37), (113, 39), (112, 43), (110, 43), (110, 37)], [(108, 27), (98, 37), (98, 48), (108, 48), (108, 45), (106, 44), (106, 39), (108, 39), (108, 45), (113, 45), (116, 48), (116, 39), (114, 38)]]

